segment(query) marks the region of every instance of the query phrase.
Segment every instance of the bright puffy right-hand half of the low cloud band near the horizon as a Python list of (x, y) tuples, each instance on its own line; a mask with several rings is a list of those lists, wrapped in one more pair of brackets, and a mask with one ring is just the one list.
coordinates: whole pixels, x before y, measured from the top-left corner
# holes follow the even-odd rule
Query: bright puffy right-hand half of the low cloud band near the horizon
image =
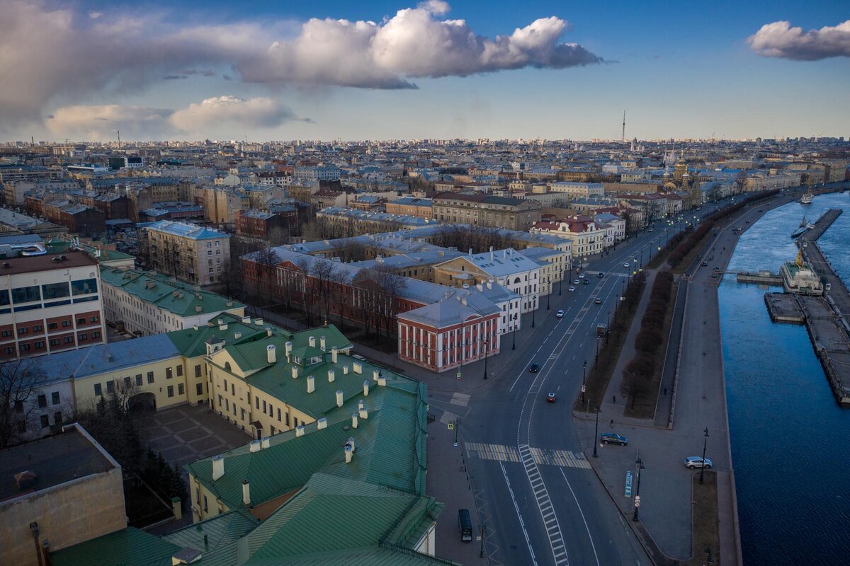
[(297, 118), (283, 104), (272, 98), (236, 98), (219, 96), (207, 98), (201, 104), (190, 104), (171, 116), (171, 123), (185, 132), (199, 132), (228, 123), (250, 128), (273, 128)]

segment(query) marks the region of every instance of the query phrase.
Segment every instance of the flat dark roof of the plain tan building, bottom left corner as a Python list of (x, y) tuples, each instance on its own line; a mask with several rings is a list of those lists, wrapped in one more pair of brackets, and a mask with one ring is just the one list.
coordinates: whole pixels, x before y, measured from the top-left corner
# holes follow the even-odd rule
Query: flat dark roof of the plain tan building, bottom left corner
[[(112, 468), (98, 446), (76, 428), (68, 428), (63, 434), (0, 451), (0, 502)], [(36, 474), (36, 484), (19, 490), (14, 474), (26, 471)]]

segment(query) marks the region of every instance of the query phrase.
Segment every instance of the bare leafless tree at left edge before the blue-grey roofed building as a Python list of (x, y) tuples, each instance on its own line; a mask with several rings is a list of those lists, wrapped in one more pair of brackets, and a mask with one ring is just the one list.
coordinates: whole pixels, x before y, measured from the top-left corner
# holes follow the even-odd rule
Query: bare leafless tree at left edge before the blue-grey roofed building
[(34, 358), (0, 365), (0, 448), (26, 434), (29, 419), (38, 409), (39, 384), (45, 374)]

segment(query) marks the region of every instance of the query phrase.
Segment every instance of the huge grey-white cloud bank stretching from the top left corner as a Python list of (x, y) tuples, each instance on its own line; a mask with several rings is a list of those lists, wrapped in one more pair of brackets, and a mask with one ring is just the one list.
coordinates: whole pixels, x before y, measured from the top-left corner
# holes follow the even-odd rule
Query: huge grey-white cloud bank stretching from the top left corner
[[(228, 78), (274, 84), (415, 88), (418, 77), (594, 64), (598, 56), (561, 42), (567, 22), (536, 20), (484, 37), (449, 5), (430, 0), (381, 22), (236, 21), (178, 25), (173, 14), (125, 8), (85, 13), (69, 3), (0, 0), (0, 127), (39, 120), (50, 105), (137, 92), (186, 69), (232, 68)], [(191, 20), (188, 18), (187, 20)], [(204, 73), (207, 75), (207, 73)], [(11, 77), (11, 78), (9, 78)]]

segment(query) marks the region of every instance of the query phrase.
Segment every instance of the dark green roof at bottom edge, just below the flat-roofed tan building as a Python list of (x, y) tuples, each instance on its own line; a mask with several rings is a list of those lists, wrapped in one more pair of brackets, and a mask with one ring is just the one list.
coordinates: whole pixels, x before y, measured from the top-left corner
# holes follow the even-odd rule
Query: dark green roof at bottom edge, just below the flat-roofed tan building
[(144, 530), (127, 527), (55, 552), (53, 566), (171, 566), (171, 557), (181, 546)]

